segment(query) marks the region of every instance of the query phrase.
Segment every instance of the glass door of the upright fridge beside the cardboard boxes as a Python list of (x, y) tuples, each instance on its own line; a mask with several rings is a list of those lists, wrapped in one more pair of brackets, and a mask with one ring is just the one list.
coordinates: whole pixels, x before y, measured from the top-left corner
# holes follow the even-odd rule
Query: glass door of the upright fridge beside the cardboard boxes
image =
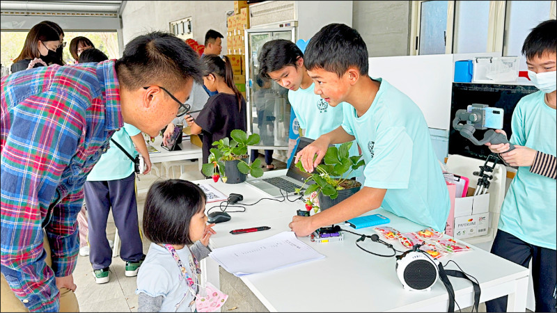
[(288, 150), (290, 103), (288, 89), (275, 81), (258, 77), (258, 55), (265, 42), (285, 39), (295, 42), (293, 27), (246, 29), (246, 102), (247, 130), (259, 134), (261, 141), (253, 149)]

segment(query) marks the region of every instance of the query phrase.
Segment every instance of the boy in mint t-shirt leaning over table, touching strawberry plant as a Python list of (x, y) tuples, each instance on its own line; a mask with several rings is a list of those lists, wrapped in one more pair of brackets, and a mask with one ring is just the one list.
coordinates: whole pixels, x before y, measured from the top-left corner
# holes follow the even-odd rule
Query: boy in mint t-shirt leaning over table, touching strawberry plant
[(305, 63), (317, 95), (330, 106), (349, 105), (343, 105), (343, 124), (301, 150), (295, 162), (311, 172), (330, 143), (355, 138), (366, 161), (366, 181), (326, 211), (294, 216), (292, 231), (307, 236), (378, 207), (444, 230), (450, 200), (423, 113), (387, 81), (368, 76), (368, 49), (359, 33), (345, 24), (324, 26), (308, 43)]

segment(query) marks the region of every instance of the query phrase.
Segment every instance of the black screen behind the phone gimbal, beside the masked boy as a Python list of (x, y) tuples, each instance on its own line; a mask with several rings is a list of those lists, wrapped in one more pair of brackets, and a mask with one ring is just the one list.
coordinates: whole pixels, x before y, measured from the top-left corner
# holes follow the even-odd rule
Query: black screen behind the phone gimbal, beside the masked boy
[[(486, 145), (474, 145), (468, 139), (462, 137), (458, 131), (453, 129), (453, 119), (459, 109), (466, 109), (470, 104), (487, 104), (494, 108), (505, 111), (503, 118), (503, 130), (510, 139), (512, 131), (510, 122), (512, 112), (519, 100), (525, 95), (535, 93), (535, 86), (523, 85), (499, 85), (492, 83), (453, 83), (453, 95), (450, 104), (450, 130), (448, 135), (448, 153), (460, 154), (465, 157), (486, 159), (491, 153)], [(485, 130), (476, 129), (474, 136), (481, 140)]]

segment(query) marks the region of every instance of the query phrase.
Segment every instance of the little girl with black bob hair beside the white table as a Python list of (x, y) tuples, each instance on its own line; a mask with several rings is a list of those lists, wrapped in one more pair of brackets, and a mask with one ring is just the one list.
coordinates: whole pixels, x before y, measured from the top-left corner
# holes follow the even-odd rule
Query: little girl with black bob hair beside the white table
[(198, 261), (209, 255), (207, 245), (215, 234), (214, 224), (206, 224), (206, 200), (199, 186), (182, 179), (149, 188), (143, 232), (152, 243), (137, 275), (139, 312), (196, 310)]

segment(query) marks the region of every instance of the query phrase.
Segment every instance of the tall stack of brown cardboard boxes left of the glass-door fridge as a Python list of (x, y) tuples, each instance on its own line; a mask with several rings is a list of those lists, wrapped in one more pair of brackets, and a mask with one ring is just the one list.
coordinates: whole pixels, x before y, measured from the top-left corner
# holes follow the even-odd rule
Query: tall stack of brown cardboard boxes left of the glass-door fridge
[(234, 1), (234, 15), (228, 17), (228, 32), (226, 33), (226, 45), (228, 47), (228, 58), (232, 63), (234, 71), (234, 83), (240, 93), (246, 97), (246, 73), (245, 73), (245, 45), (244, 29), (249, 29), (249, 6), (247, 1)]

